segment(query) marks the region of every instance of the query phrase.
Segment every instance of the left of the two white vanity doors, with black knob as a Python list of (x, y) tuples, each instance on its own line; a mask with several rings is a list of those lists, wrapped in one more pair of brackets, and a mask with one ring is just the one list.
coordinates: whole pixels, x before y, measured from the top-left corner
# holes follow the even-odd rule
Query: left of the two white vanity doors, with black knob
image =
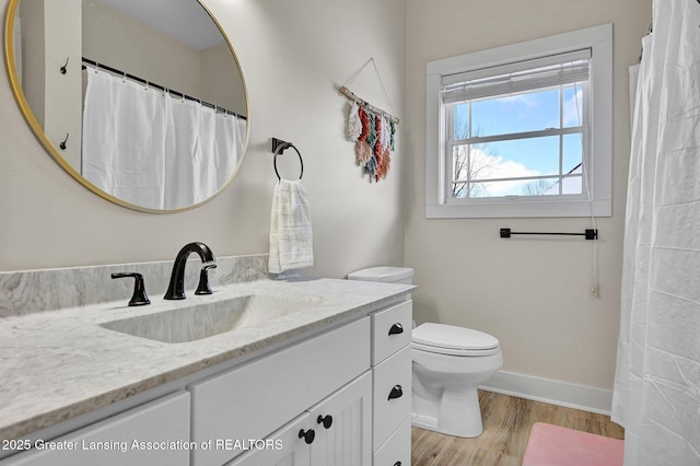
[(249, 445), (248, 453), (226, 466), (308, 466), (311, 444), (315, 440), (315, 432), (308, 433), (310, 429), (308, 412), (304, 412), (266, 440)]

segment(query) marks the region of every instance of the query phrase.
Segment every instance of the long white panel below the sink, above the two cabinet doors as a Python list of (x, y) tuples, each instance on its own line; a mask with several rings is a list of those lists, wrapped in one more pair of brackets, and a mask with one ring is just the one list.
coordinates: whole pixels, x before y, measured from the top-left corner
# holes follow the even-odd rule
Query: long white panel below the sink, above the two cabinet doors
[[(190, 385), (192, 440), (265, 439), (370, 368), (370, 318)], [(197, 450), (197, 466), (241, 451)]]

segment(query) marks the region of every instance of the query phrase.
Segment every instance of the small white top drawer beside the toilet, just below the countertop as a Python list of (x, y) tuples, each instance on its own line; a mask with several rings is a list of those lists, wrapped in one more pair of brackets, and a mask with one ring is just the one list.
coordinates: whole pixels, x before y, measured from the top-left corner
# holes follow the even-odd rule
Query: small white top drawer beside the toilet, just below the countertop
[(372, 365), (411, 342), (412, 301), (372, 314)]

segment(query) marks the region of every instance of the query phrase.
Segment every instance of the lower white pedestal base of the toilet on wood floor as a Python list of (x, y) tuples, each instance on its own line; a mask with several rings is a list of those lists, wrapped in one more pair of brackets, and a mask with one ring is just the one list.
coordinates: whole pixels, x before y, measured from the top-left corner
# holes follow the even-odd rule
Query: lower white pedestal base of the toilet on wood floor
[(454, 436), (481, 435), (483, 423), (477, 388), (444, 391), (440, 396), (427, 397), (415, 392), (411, 424)]

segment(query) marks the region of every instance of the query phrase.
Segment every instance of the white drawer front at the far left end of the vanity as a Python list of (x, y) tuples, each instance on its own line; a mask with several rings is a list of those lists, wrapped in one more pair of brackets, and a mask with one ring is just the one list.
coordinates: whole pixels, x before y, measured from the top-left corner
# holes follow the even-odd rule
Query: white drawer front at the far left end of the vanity
[[(71, 450), (48, 450), (51, 445)], [(45, 450), (11, 456), (0, 465), (187, 466), (188, 446), (189, 394), (179, 392), (45, 442)]]

